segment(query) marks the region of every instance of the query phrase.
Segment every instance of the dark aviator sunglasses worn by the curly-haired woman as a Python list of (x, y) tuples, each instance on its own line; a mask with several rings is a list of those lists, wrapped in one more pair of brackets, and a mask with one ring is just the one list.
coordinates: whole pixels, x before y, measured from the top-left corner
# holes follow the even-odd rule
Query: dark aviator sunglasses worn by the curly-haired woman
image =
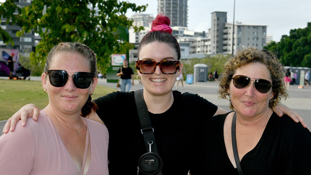
[(272, 84), (265, 79), (257, 78), (255, 80), (251, 80), (252, 77), (244, 76), (244, 75), (235, 75), (233, 79), (233, 85), (234, 87), (238, 89), (242, 89), (244, 87), (247, 87), (251, 81), (254, 82), (254, 87), (257, 89), (260, 93), (267, 93), (270, 91)]

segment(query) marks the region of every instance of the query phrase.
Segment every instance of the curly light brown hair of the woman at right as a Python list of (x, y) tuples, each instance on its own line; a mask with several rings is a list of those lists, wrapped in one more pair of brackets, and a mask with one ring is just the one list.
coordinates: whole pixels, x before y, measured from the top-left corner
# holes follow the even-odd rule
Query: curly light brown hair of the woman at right
[[(267, 50), (259, 50), (255, 47), (244, 47), (238, 52), (230, 57), (230, 59), (225, 63), (224, 69), (221, 72), (219, 81), (218, 98), (227, 99), (228, 89), (230, 86), (230, 81), (232, 79), (235, 71), (243, 65), (248, 63), (258, 62), (267, 65), (267, 69), (270, 71), (272, 79), (272, 92), (274, 97), (269, 102), (269, 107), (273, 108), (277, 103), (281, 101), (281, 98), (286, 100), (288, 93), (286, 92), (286, 86), (284, 83), (285, 69), (280, 60), (277, 59), (276, 55)], [(230, 101), (231, 110), (234, 109)]]

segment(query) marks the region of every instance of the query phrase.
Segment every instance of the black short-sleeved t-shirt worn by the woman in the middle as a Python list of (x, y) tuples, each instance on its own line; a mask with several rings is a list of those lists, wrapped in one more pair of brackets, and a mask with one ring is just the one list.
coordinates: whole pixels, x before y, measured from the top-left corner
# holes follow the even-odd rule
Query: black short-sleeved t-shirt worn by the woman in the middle
[[(162, 173), (187, 175), (203, 117), (215, 114), (217, 106), (197, 94), (173, 91), (174, 102), (162, 114), (149, 112)], [(109, 174), (137, 174), (138, 160), (147, 152), (141, 133), (134, 92), (113, 92), (94, 101), (97, 114), (109, 130)], [(140, 173), (141, 175), (142, 173)]]

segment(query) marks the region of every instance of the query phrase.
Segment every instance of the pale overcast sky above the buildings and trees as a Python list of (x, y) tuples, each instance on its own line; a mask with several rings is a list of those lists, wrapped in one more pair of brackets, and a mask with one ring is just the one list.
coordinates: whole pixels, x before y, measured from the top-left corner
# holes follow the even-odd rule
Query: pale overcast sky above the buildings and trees
[[(148, 7), (145, 12), (157, 14), (157, 0), (128, 0)], [(233, 21), (234, 0), (188, 0), (188, 29), (207, 31), (211, 27), (211, 13), (227, 12), (227, 22)], [(290, 29), (305, 28), (311, 22), (311, 0), (236, 0), (235, 19), (242, 23), (267, 25), (267, 34), (280, 41)], [(127, 17), (133, 12), (128, 11)]]

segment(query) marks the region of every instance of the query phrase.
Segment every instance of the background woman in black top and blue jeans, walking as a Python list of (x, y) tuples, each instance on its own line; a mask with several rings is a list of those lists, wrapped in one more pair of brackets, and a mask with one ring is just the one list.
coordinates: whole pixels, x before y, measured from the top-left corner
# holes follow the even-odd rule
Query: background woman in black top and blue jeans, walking
[(121, 80), (120, 80), (120, 91), (126, 91), (126, 92), (130, 92), (131, 90), (131, 79), (132, 79), (132, 86), (134, 85), (134, 73), (132, 68), (128, 67), (128, 60), (124, 59), (123, 60), (123, 67), (121, 70), (118, 70), (117, 73), (118, 76), (121, 76)]

